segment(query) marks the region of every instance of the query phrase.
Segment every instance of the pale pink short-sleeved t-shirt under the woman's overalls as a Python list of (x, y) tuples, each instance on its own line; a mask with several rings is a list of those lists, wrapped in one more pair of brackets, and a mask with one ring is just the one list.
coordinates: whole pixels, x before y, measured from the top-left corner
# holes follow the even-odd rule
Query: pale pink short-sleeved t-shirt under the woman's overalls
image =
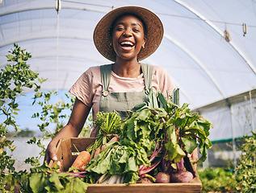
[[(155, 91), (161, 91), (165, 96), (174, 91), (174, 82), (166, 70), (160, 66), (153, 66), (151, 87)], [(86, 106), (92, 108), (93, 118), (99, 112), (99, 102), (103, 86), (101, 83), (100, 68), (90, 67), (82, 76), (73, 84), (69, 92), (76, 96)], [(143, 74), (136, 78), (121, 77), (111, 72), (111, 81), (109, 92), (141, 92), (145, 90)]]

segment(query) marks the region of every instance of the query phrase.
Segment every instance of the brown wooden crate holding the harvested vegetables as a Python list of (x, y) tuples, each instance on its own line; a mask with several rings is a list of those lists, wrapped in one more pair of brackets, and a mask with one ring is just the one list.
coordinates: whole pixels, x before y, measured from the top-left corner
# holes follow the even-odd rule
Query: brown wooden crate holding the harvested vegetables
[[(61, 139), (57, 145), (57, 158), (61, 161), (61, 170), (69, 170), (74, 159), (74, 153), (86, 150), (94, 142), (95, 138), (67, 138)], [(78, 150), (73, 146), (75, 145)], [(195, 178), (190, 183), (136, 183), (130, 184), (89, 184), (86, 193), (166, 193), (166, 192), (200, 192), (202, 183), (194, 167), (188, 158), (184, 159), (184, 165), (190, 170)], [(50, 162), (49, 166), (54, 166), (56, 162)]]

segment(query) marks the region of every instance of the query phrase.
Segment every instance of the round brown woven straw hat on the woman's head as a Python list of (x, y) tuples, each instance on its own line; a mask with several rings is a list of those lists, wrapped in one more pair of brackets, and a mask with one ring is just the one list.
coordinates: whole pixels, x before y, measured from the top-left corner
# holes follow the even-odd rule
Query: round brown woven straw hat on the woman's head
[(111, 46), (110, 28), (115, 18), (122, 14), (136, 14), (143, 20), (146, 27), (146, 43), (145, 48), (141, 48), (137, 59), (144, 60), (157, 50), (163, 37), (163, 26), (160, 18), (151, 10), (147, 10), (140, 6), (122, 6), (108, 12), (97, 24), (94, 29), (94, 44), (99, 53), (111, 61), (115, 61), (115, 51)]

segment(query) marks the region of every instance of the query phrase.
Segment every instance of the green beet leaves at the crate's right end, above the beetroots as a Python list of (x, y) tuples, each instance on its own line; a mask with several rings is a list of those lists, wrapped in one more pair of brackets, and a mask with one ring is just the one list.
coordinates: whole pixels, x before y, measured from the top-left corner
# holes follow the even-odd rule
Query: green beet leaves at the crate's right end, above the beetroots
[[(173, 109), (175, 106), (170, 101), (167, 101), (167, 104), (168, 109)], [(201, 157), (198, 162), (204, 162), (207, 158), (206, 150), (212, 147), (212, 142), (208, 139), (209, 129), (213, 126), (212, 122), (205, 117), (200, 117), (198, 113), (191, 114), (188, 104), (183, 104), (181, 108), (176, 107), (174, 114), (170, 114), (166, 121), (167, 135), (170, 139), (166, 143), (166, 149), (169, 152), (167, 160), (179, 162), (186, 153), (191, 154), (199, 146)]]

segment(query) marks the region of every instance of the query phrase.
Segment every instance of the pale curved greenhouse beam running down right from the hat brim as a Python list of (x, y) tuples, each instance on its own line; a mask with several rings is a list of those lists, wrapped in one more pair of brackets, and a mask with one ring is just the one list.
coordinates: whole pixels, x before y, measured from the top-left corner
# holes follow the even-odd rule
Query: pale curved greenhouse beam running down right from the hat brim
[(183, 47), (183, 45), (181, 43), (178, 43), (178, 41), (176, 41), (175, 39), (172, 39), (169, 35), (164, 35), (164, 37), (168, 40), (170, 40), (170, 42), (174, 43), (177, 47), (179, 47), (182, 51), (184, 51), (189, 57), (191, 57), (192, 60), (195, 61), (196, 64), (199, 65), (199, 67), (206, 73), (206, 75), (209, 77), (210, 80), (212, 80), (212, 83), (215, 85), (215, 87), (217, 88), (217, 90), (220, 92), (220, 95), (225, 98), (225, 94), (222, 91), (222, 89), (220, 88), (220, 85), (217, 83), (217, 81), (215, 80), (215, 78), (212, 76), (211, 72), (208, 71), (207, 68), (204, 67), (204, 64), (202, 64), (200, 62), (200, 60), (198, 58), (195, 57), (195, 55), (193, 55), (191, 53), (191, 51), (188, 51), (186, 47)]

